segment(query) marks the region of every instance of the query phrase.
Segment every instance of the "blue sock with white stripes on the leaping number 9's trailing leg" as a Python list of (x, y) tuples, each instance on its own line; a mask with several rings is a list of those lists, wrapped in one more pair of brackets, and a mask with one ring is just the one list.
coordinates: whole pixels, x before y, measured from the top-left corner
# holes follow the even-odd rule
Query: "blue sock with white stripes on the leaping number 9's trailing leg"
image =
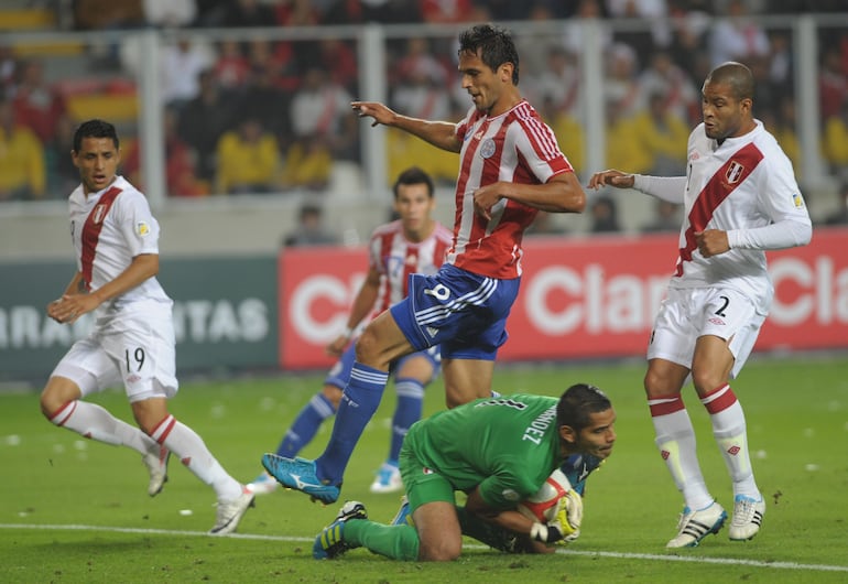
[(341, 484), (354, 447), (380, 405), (388, 381), (387, 371), (354, 363), (350, 380), (336, 412), (333, 434), (324, 453), (315, 461), (319, 478), (334, 485)]

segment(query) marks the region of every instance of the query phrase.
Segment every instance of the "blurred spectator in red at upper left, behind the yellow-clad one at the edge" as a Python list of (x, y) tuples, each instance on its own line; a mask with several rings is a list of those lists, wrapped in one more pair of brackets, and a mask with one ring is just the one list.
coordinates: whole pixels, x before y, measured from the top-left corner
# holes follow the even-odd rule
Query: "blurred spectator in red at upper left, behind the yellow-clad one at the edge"
[(62, 95), (44, 78), (44, 64), (35, 58), (21, 63), (13, 93), (14, 117), (39, 137), (42, 145), (53, 145), (56, 126), (67, 106)]

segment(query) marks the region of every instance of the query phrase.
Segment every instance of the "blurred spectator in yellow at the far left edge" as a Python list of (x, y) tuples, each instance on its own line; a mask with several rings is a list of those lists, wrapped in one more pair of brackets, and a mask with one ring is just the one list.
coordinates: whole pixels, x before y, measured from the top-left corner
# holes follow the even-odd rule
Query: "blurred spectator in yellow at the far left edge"
[(0, 96), (0, 201), (42, 198), (45, 185), (44, 149), (39, 137), (15, 122), (12, 104)]

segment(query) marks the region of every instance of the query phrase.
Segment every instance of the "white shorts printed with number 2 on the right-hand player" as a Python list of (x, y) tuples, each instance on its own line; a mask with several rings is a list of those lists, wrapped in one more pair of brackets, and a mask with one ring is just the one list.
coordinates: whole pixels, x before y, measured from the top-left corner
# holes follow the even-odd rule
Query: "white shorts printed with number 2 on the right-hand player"
[(736, 290), (726, 288), (668, 289), (654, 321), (649, 359), (665, 359), (692, 369), (695, 343), (705, 335), (730, 339), (735, 361), (731, 378), (753, 349), (765, 316)]

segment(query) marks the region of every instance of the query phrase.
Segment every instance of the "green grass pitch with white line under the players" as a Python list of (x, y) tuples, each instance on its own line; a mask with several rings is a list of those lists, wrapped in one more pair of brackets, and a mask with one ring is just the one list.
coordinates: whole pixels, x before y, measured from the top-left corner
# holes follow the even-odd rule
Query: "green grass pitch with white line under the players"
[[(641, 364), (498, 366), (496, 389), (558, 394), (576, 381), (604, 388), (618, 412), (618, 443), (592, 475), (583, 536), (555, 556), (500, 554), (469, 541), (449, 564), (393, 562), (354, 550), (312, 559), (312, 540), (336, 506), (278, 491), (257, 500), (239, 534), (205, 534), (213, 491), (173, 462), (156, 498), (139, 457), (56, 429), (36, 393), (0, 393), (0, 582), (846, 582), (848, 581), (848, 359), (754, 359), (733, 383), (748, 415), (754, 469), (768, 497), (763, 531), (730, 542), (726, 530), (696, 549), (668, 552), (681, 498), (653, 445)], [(172, 412), (193, 426), (221, 464), (248, 482), (261, 469), (318, 376), (185, 382)], [(731, 491), (709, 422), (691, 388), (702, 465), (726, 507)], [(95, 399), (130, 420), (121, 392)], [(437, 382), (425, 414), (444, 405)], [(388, 448), (391, 389), (359, 444), (344, 498), (390, 519), (394, 495), (368, 491)], [(320, 453), (329, 424), (304, 452)], [(181, 511), (191, 510), (191, 515)]]

